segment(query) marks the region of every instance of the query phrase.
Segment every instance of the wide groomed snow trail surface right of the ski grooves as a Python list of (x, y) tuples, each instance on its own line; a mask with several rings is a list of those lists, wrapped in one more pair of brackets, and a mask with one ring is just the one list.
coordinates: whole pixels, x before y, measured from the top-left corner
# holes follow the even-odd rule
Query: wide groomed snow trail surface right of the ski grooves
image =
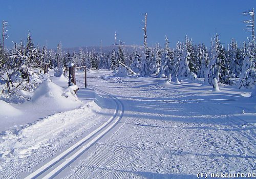
[[(77, 78), (82, 80), (82, 75)], [(112, 135), (96, 142), (93, 151), (56, 178), (255, 173), (255, 100), (228, 86), (212, 93), (210, 86), (198, 83), (163, 87), (159, 78), (113, 75), (89, 73), (88, 84), (116, 96), (125, 107), (123, 118)]]

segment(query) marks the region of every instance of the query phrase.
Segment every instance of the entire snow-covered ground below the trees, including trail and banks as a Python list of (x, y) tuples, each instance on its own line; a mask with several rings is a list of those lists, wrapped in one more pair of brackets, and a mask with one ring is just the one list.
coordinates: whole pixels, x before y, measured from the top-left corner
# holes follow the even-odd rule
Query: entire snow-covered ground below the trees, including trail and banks
[[(68, 111), (61, 105), (59, 113), (37, 113), (36, 107), (24, 111), (24, 103), (12, 105), (15, 120), (1, 117), (16, 126), (1, 125), (0, 178), (197, 178), (199, 172), (256, 172), (256, 97), (249, 97), (251, 91), (220, 86), (220, 92), (212, 92), (201, 81), (176, 84), (104, 70), (90, 71), (84, 89), (83, 75), (76, 77), (80, 101)], [(65, 79), (51, 79), (65, 84)], [(44, 93), (55, 89), (61, 100), (67, 93), (67, 99), (76, 99), (67, 88), (44, 83), (50, 86)], [(33, 101), (33, 96), (30, 106), (42, 106), (49, 97)], [(50, 110), (56, 107), (52, 104), (45, 106)], [(34, 121), (29, 117), (33, 111)]]

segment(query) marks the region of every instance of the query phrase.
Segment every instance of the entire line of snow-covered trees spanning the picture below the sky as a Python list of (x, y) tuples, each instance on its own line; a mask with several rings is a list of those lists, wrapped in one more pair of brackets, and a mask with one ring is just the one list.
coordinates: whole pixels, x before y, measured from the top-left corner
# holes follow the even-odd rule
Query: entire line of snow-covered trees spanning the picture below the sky
[(254, 40), (238, 44), (232, 39), (225, 49), (216, 34), (211, 40), (210, 48), (204, 43), (193, 44), (188, 37), (177, 42), (176, 48), (169, 48), (167, 36), (161, 48), (134, 48), (127, 52), (125, 46), (119, 45), (110, 52), (80, 50), (78, 52), (62, 51), (61, 44), (54, 52), (47, 47), (35, 47), (30, 33), (27, 42), (14, 43), (11, 49), (3, 49), (0, 43), (0, 84), (2, 91), (17, 93), (16, 89), (33, 91), (39, 84), (37, 79), (44, 78), (45, 67), (61, 71), (70, 62), (75, 66), (86, 65), (88, 69), (117, 70), (125, 67), (129, 72), (139, 76), (158, 75), (173, 76), (175, 79), (196, 80), (204, 78), (212, 85), (212, 80), (219, 83), (235, 85), (234, 78), (239, 78), (239, 88), (251, 88), (256, 82), (256, 52)]

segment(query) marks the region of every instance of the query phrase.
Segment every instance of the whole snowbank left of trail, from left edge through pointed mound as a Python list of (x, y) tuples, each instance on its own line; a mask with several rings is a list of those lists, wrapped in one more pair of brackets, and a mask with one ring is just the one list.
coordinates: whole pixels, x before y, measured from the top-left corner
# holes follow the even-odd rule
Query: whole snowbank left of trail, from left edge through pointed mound
[[(62, 76), (52, 77), (52, 79), (67, 86), (67, 83), (63, 83), (65, 80)], [(76, 88), (76, 85), (62, 88), (50, 79), (46, 79), (33, 93), (19, 90), (19, 94), (29, 100), (20, 104), (9, 104), (1, 100), (0, 130), (17, 128), (45, 116), (82, 106), (83, 103), (74, 94)]]

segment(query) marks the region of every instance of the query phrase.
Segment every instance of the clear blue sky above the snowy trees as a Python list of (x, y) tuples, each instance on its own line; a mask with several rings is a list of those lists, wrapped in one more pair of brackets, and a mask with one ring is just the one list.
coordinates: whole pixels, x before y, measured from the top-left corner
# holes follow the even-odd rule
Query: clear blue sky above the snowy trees
[(231, 38), (240, 42), (250, 35), (243, 30), (242, 12), (253, 7), (255, 0), (8, 0), (1, 2), (0, 20), (9, 21), (7, 47), (26, 40), (28, 30), (35, 44), (49, 48), (60, 41), (62, 47), (99, 46), (101, 40), (108, 46), (114, 43), (115, 31), (117, 40), (142, 45), (145, 12), (148, 46), (163, 46), (165, 34), (171, 47), (185, 35), (209, 46), (216, 28), (227, 46)]

